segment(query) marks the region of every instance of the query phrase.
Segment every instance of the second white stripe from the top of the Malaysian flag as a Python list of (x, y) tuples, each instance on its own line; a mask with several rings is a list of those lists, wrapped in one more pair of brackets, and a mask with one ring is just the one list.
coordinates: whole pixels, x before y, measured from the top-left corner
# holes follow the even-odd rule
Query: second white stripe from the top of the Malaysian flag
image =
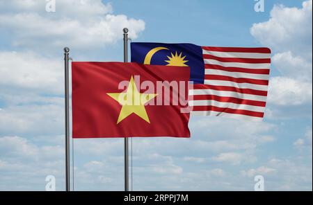
[(204, 64), (214, 64), (223, 67), (236, 67), (243, 69), (269, 69), (269, 63), (243, 63), (243, 62), (220, 62), (213, 59), (204, 59)]

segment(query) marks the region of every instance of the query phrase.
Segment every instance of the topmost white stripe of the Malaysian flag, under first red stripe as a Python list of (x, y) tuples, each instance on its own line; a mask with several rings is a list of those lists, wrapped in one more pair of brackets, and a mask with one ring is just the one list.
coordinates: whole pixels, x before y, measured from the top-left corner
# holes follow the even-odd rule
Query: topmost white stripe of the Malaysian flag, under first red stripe
[(255, 58), (265, 59), (271, 58), (271, 53), (237, 53), (237, 52), (220, 52), (220, 51), (207, 51), (202, 49), (203, 54), (214, 55), (216, 57), (239, 57), (239, 58)]

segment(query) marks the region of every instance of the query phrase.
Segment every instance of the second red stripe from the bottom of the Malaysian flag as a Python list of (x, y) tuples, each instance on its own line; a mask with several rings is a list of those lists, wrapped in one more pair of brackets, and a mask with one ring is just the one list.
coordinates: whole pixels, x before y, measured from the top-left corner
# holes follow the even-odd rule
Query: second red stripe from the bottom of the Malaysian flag
[(221, 97), (221, 96), (214, 96), (214, 95), (197, 95), (192, 96), (193, 99), (189, 100), (215, 100), (221, 103), (235, 103), (235, 104), (242, 104), (242, 105), (253, 105), (258, 107), (265, 107), (266, 102), (257, 101), (257, 100), (245, 100), (240, 98), (233, 98), (233, 97)]

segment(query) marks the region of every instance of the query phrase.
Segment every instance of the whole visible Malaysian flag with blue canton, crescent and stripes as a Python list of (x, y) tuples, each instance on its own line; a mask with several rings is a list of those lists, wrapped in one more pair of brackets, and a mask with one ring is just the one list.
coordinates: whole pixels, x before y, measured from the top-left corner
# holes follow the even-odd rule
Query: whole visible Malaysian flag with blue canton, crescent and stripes
[(192, 114), (248, 120), (264, 117), (269, 48), (131, 43), (131, 62), (190, 66)]

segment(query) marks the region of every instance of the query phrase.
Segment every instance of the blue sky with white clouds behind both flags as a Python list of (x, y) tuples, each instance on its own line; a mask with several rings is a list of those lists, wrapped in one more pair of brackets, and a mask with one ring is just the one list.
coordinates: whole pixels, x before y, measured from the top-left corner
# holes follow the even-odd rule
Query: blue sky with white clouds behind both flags
[[(0, 190), (65, 190), (63, 47), (122, 61), (133, 42), (267, 46), (266, 116), (193, 116), (191, 139), (133, 139), (134, 190), (312, 190), (312, 0), (0, 0)], [(74, 141), (75, 190), (123, 190), (123, 139)]]

